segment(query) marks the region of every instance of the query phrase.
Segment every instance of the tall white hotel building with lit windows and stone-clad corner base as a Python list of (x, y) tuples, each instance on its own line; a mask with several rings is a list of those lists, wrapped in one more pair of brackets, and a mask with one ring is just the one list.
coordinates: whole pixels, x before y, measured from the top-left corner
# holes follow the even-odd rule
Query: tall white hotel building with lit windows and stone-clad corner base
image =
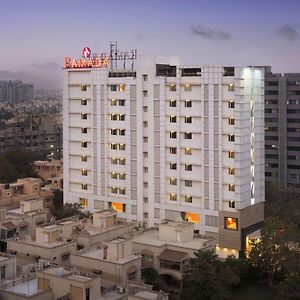
[(263, 69), (68, 66), (63, 122), (65, 202), (148, 226), (182, 218), (232, 253), (263, 221)]

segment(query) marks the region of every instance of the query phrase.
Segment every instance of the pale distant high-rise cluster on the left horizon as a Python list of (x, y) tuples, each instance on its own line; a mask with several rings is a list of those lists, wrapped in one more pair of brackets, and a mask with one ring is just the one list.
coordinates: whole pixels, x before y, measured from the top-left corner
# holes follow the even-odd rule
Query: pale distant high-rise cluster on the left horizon
[(20, 80), (0, 81), (0, 102), (18, 103), (33, 100), (33, 85)]

